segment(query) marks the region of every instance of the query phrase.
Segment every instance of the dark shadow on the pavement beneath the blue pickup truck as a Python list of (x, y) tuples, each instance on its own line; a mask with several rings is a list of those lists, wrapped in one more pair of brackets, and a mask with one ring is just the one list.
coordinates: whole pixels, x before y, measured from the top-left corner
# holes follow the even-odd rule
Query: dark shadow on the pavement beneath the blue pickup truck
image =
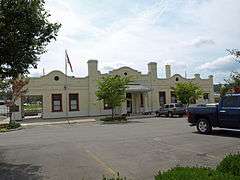
[[(193, 132), (193, 133), (201, 134), (199, 132)], [(201, 135), (203, 135), (203, 134), (201, 134)], [(208, 134), (208, 136), (222, 136), (222, 137), (240, 138), (240, 131), (231, 130), (231, 129), (217, 129), (217, 130), (213, 130), (211, 134)]]

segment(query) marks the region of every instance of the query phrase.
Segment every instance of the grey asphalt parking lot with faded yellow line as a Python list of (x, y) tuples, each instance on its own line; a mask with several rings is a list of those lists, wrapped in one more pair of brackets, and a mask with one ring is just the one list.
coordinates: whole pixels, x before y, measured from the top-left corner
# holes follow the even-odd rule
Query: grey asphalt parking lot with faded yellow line
[(186, 118), (36, 126), (0, 134), (0, 179), (150, 180), (177, 165), (214, 167), (240, 151), (240, 132), (196, 133)]

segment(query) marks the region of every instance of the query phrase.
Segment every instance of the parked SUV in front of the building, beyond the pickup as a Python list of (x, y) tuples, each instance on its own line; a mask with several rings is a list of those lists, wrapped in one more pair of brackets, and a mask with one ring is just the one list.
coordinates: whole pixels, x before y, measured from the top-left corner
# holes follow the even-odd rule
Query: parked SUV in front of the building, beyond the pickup
[(185, 113), (185, 107), (181, 103), (170, 103), (165, 104), (164, 107), (157, 110), (156, 116), (165, 115), (167, 117), (172, 117), (178, 115), (179, 117), (182, 117)]

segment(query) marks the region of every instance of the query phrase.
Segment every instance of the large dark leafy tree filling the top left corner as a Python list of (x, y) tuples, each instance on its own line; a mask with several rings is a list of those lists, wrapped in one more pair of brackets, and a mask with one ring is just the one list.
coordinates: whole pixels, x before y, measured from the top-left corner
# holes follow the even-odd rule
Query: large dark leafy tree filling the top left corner
[(44, 0), (0, 1), (0, 75), (16, 79), (37, 67), (46, 46), (60, 28), (50, 23)]

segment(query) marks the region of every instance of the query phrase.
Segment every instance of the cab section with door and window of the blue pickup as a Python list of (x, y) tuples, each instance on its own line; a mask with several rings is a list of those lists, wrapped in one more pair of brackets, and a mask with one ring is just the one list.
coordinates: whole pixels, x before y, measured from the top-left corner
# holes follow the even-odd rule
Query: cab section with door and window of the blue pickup
[(219, 105), (221, 127), (240, 128), (240, 96), (225, 96)]

